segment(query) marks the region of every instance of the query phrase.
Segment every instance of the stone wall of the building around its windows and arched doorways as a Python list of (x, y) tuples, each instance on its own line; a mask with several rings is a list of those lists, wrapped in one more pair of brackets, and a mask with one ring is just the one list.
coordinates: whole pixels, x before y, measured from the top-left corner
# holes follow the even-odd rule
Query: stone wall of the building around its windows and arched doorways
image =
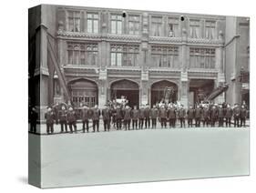
[[(189, 101), (189, 83), (194, 79), (214, 80), (214, 86), (219, 86), (226, 80), (230, 83), (230, 89), (226, 95), (229, 101), (234, 101), (237, 97), (237, 85), (230, 81), (233, 71), (230, 69), (234, 61), (238, 61), (236, 54), (238, 52), (236, 39), (232, 40), (237, 31), (236, 17), (225, 17), (219, 15), (191, 15), (163, 12), (148, 12), (138, 10), (118, 10), (92, 7), (75, 7), (75, 6), (52, 6), (46, 5), (43, 23), (47, 26), (47, 31), (51, 37), (56, 37), (56, 60), (60, 66), (61, 72), (65, 76), (65, 82), (84, 78), (92, 80), (97, 85), (99, 107), (102, 107), (108, 99), (111, 92), (111, 84), (121, 79), (128, 79), (138, 83), (139, 87), (139, 104), (150, 103), (150, 88), (155, 82), (168, 80), (178, 86), (178, 100), (187, 107)], [(69, 13), (79, 13), (79, 30), (71, 32), (69, 30), (70, 15)], [(97, 33), (88, 33), (87, 14), (97, 14)], [(111, 15), (122, 15), (126, 13), (126, 17), (120, 17), (122, 21), (122, 33), (113, 34), (111, 32)], [(74, 22), (76, 14), (73, 14)], [(138, 15), (139, 30), (137, 35), (130, 35), (128, 30), (129, 15)], [(181, 15), (184, 21), (181, 21)], [(153, 21), (160, 16), (162, 22), (162, 30), (159, 35), (154, 31)], [(71, 17), (72, 18), (72, 17)], [(169, 20), (169, 18), (175, 18)], [(69, 22), (68, 22), (69, 21)], [(213, 25), (210, 21), (213, 21)], [(72, 23), (72, 22), (71, 22)], [(169, 24), (173, 25), (169, 25)], [(72, 24), (71, 24), (72, 25)], [(74, 24), (73, 24), (74, 25)], [(175, 28), (178, 25), (177, 28)], [(193, 25), (191, 27), (190, 25)], [(200, 27), (197, 27), (200, 25)], [(211, 33), (209, 26), (213, 26)], [(196, 28), (195, 28), (196, 26)], [(174, 36), (169, 36), (169, 28), (172, 28)], [(193, 29), (193, 30), (191, 30)], [(77, 30), (74, 27), (74, 30)], [(191, 30), (191, 31), (190, 31)], [(244, 30), (243, 30), (244, 31)], [(208, 33), (207, 33), (208, 32)], [(155, 34), (154, 34), (155, 33)], [(244, 34), (244, 32), (242, 32)], [(198, 36), (195, 36), (198, 35)], [(213, 37), (208, 37), (214, 34)], [(55, 39), (55, 38), (51, 38)], [(231, 40), (231, 41), (230, 41)], [(230, 41), (230, 44), (225, 46)], [(241, 40), (244, 42), (244, 40)], [(69, 43), (85, 43), (97, 44), (97, 65), (70, 65), (68, 64), (67, 47)], [(138, 64), (137, 66), (111, 66), (111, 45), (138, 45)], [(243, 44), (243, 43), (241, 43)], [(178, 49), (177, 65), (170, 67), (159, 67), (153, 63), (153, 46), (172, 46)], [(191, 49), (194, 48), (194, 58), (198, 57), (198, 53), (203, 52), (207, 57), (209, 49), (214, 50), (214, 67), (202, 68), (190, 66)], [(200, 51), (197, 51), (200, 50)], [(174, 52), (174, 51), (173, 51)], [(192, 53), (193, 54), (193, 53)], [(75, 55), (75, 54), (74, 54)], [(201, 55), (201, 54), (199, 54)], [(240, 57), (240, 56), (239, 56)], [(45, 58), (45, 57), (44, 57)], [(202, 57), (200, 57), (202, 58)], [(241, 58), (241, 57), (240, 57)], [(46, 60), (45, 60), (46, 61)], [(162, 58), (164, 60), (164, 56)], [(242, 60), (242, 62), (244, 62)], [(52, 66), (51, 61), (48, 68)], [(164, 64), (164, 63), (163, 63)], [(201, 63), (198, 63), (201, 64)], [(209, 63), (210, 64), (210, 63)], [(206, 62), (204, 63), (206, 65)], [(54, 71), (54, 69), (53, 69)], [(55, 80), (59, 78), (53, 73)], [(54, 80), (52, 80), (54, 81)], [(59, 80), (61, 81), (61, 80)], [(50, 81), (51, 82), (51, 81)], [(55, 86), (58, 86), (56, 81)], [(45, 98), (49, 100), (67, 101), (64, 95), (64, 89), (61, 88), (60, 94), (54, 93), (55, 86), (49, 85), (46, 89), (50, 92), (44, 92), (48, 95)], [(42, 91), (43, 92), (43, 91)], [(53, 97), (54, 96), (54, 97)], [(53, 99), (52, 99), (53, 98)], [(223, 102), (225, 95), (220, 95), (215, 102)]]

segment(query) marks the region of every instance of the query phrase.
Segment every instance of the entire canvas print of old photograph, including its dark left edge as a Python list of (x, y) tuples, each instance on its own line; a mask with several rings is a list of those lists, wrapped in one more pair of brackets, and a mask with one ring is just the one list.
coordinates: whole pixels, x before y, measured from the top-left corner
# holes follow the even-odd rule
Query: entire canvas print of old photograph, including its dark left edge
[(250, 175), (250, 17), (28, 10), (28, 183)]

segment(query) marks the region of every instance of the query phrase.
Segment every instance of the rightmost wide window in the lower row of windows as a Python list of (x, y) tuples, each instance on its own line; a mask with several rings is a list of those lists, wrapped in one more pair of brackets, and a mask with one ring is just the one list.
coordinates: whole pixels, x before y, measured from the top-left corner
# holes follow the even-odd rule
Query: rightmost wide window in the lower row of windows
[(215, 49), (190, 47), (189, 67), (215, 68)]

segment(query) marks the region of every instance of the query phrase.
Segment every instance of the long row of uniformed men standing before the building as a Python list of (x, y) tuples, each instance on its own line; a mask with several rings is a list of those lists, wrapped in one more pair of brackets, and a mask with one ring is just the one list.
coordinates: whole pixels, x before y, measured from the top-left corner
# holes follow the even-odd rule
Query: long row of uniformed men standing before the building
[[(77, 112), (73, 107), (61, 106), (57, 111), (52, 107), (47, 108), (45, 114), (46, 118), (46, 132), (47, 134), (54, 133), (54, 124), (60, 124), (61, 132), (77, 133)], [(99, 131), (99, 120), (102, 117), (105, 131), (110, 130), (113, 125), (117, 130), (124, 128), (125, 130), (142, 129), (142, 128), (156, 128), (157, 120), (160, 122), (160, 127), (176, 127), (177, 119), (179, 119), (180, 127), (186, 127), (185, 119), (188, 119), (188, 127), (193, 127), (193, 120), (195, 127), (215, 127), (218, 123), (219, 127), (231, 126), (231, 119), (233, 117), (234, 127), (245, 127), (245, 120), (247, 117), (247, 109), (242, 105), (239, 107), (235, 104), (234, 107), (222, 105), (213, 106), (189, 106), (188, 110), (180, 105), (179, 108), (170, 104), (169, 106), (150, 108), (148, 105), (137, 106), (130, 108), (128, 106), (108, 106), (106, 105), (102, 110), (97, 106), (89, 108), (84, 106), (79, 117), (82, 119), (82, 131), (89, 132), (89, 122), (92, 120), (93, 132)], [(68, 128), (67, 128), (68, 126)], [(32, 132), (36, 132), (36, 128), (32, 128)]]

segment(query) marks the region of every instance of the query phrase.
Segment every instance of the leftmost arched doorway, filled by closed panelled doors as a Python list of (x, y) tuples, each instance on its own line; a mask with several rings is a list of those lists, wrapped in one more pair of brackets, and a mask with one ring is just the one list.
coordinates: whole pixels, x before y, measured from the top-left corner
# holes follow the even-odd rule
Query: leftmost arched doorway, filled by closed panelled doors
[(87, 79), (77, 79), (68, 83), (68, 89), (75, 107), (97, 105), (97, 84)]

